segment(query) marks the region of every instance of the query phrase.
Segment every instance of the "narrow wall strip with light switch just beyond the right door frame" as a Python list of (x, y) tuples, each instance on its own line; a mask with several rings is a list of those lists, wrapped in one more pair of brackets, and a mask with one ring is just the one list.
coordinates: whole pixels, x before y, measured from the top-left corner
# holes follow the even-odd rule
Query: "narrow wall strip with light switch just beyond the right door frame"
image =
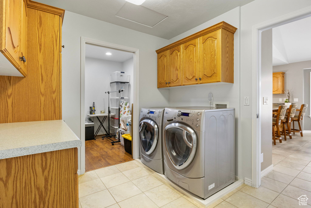
[[(261, 38), (261, 171), (272, 165), (272, 29), (262, 32)], [(263, 104), (268, 97), (268, 104)]]

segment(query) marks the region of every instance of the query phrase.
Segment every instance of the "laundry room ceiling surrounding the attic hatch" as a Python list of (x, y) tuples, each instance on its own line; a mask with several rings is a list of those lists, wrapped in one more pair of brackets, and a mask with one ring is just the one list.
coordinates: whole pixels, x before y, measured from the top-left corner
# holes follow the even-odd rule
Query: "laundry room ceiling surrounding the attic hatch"
[[(146, 0), (137, 8), (146, 7), (159, 12), (166, 19), (148, 27), (115, 16), (126, 3), (125, 0), (36, 0), (54, 7), (59, 7), (70, 12), (92, 17), (132, 30), (150, 35), (171, 39), (214, 17), (230, 11), (238, 6), (243, 6), (254, 0)], [(134, 9), (132, 12), (136, 12)], [(66, 18), (66, 13), (65, 13)], [(142, 18), (148, 18), (147, 16)]]

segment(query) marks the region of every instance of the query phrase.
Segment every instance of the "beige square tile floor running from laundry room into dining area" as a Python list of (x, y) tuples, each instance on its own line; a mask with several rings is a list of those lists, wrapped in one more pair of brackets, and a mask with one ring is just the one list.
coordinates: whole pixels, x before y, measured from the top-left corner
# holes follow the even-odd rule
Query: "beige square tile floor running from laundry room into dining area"
[[(311, 133), (272, 145), (273, 171), (255, 189), (243, 184), (211, 207), (300, 207), (307, 195), (311, 207)], [(170, 186), (137, 161), (79, 176), (79, 207), (203, 207)]]

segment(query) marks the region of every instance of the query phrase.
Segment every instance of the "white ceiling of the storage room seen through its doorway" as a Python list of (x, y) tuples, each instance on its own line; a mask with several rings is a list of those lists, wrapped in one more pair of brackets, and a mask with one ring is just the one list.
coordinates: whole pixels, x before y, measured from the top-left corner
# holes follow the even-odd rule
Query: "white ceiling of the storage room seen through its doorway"
[[(111, 53), (111, 55), (106, 55), (105, 53)], [(133, 58), (133, 53), (86, 44), (85, 57), (124, 62)]]

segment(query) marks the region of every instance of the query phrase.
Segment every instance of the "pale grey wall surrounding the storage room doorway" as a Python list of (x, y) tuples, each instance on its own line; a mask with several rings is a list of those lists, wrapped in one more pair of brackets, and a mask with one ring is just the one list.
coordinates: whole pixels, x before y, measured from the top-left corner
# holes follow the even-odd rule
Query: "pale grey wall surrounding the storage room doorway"
[[(139, 107), (167, 106), (168, 90), (157, 89), (155, 50), (169, 41), (107, 22), (65, 12), (62, 28), (63, 120), (81, 138), (81, 36), (139, 49)], [(154, 77), (153, 79), (150, 77)], [(136, 112), (138, 115), (139, 112)], [(80, 149), (79, 169), (80, 169)]]

